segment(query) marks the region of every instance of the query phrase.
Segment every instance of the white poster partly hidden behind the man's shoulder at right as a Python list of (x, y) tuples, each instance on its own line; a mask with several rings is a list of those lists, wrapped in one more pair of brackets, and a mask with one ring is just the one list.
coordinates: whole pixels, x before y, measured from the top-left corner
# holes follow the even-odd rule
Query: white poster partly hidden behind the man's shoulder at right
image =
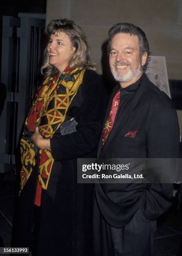
[(171, 98), (165, 56), (150, 56), (145, 73), (153, 84)]

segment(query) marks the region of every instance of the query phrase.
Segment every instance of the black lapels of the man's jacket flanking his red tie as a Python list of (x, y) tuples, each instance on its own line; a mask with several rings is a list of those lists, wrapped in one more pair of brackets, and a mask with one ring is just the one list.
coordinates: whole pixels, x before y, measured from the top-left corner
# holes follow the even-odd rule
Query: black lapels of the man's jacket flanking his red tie
[[(104, 154), (105, 151), (107, 151), (108, 146), (110, 146), (110, 144), (114, 141), (114, 138), (117, 136), (118, 133), (121, 134), (121, 138), (124, 137), (124, 135), (127, 133), (128, 123), (130, 123), (130, 120), (131, 120), (131, 113), (136, 109), (136, 106), (140, 102), (141, 98), (144, 97), (144, 93), (147, 90), (148, 86), (149, 86), (149, 79), (147, 78), (146, 74), (143, 74), (138, 90), (135, 92), (135, 95), (132, 98), (130, 104), (128, 104), (124, 109), (124, 115), (122, 113), (122, 119), (120, 118), (121, 113), (119, 113), (117, 120), (114, 123), (114, 126), (111, 130), (111, 133), (109, 134), (109, 137), (106, 140), (106, 143), (103, 149), (101, 147), (100, 153), (98, 151), (100, 157)], [(114, 97), (114, 95), (112, 95), (112, 97)], [(111, 107), (111, 103), (109, 106), (109, 110), (110, 110), (110, 107)], [(109, 111), (107, 110), (107, 113), (108, 112)]]

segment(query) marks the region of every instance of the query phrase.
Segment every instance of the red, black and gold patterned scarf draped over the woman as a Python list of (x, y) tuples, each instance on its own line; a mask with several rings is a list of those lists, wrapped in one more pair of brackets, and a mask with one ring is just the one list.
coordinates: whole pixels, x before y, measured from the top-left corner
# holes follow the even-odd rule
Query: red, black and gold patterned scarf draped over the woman
[(39, 157), (38, 180), (43, 189), (47, 189), (53, 166), (53, 156), (47, 149), (37, 148), (31, 136), (38, 127), (44, 138), (52, 138), (65, 120), (67, 110), (83, 82), (85, 69), (78, 68), (55, 77), (47, 77), (35, 95), (28, 113), (20, 142), (22, 169), (20, 172), (20, 192), (25, 186)]

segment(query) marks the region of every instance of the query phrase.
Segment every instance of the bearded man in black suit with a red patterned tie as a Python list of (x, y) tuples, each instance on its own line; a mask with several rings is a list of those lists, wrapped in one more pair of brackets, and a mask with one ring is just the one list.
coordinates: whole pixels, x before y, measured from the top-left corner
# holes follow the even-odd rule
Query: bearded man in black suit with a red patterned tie
[[(129, 23), (109, 30), (112, 92), (99, 158), (177, 158), (179, 126), (172, 101), (147, 78), (145, 33)], [(94, 256), (152, 256), (156, 219), (170, 207), (172, 184), (96, 184)]]

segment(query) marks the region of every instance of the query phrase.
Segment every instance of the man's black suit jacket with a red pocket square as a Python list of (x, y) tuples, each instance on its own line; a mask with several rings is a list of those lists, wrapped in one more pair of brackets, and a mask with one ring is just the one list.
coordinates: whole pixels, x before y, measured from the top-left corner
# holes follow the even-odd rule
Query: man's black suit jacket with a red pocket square
[[(114, 88), (111, 100), (117, 90)], [(138, 133), (135, 138), (125, 137), (128, 131)], [(117, 114), (103, 148), (101, 143), (102, 139), (99, 158), (178, 158), (179, 125), (172, 101), (143, 74), (131, 102)], [(173, 184), (96, 184), (95, 190), (104, 219), (121, 228), (139, 207), (149, 220), (162, 215), (171, 205)]]

